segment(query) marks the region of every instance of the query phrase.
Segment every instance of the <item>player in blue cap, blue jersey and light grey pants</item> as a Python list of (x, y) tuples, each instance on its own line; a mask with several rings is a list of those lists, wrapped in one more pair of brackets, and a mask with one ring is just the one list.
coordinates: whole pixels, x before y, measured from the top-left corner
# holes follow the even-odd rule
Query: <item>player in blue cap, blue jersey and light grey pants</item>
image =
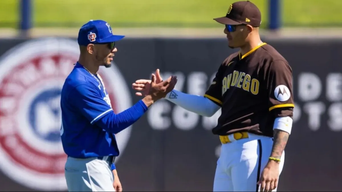
[(119, 155), (115, 134), (136, 122), (177, 82), (171, 76), (156, 84), (153, 74), (149, 94), (115, 114), (97, 71), (100, 66), (110, 67), (117, 52), (115, 42), (122, 38), (113, 35), (110, 25), (103, 20), (90, 20), (79, 30), (80, 57), (61, 94), (61, 138), (68, 155), (65, 178), (69, 191), (122, 191), (120, 182), (115, 183), (117, 172), (113, 162)]

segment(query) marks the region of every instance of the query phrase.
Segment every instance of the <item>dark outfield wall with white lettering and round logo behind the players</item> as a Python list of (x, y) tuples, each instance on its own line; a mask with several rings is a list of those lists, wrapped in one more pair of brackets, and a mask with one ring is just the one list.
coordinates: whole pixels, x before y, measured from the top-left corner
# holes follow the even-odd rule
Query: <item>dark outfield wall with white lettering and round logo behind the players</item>
[[(279, 191), (340, 191), (342, 40), (267, 40), (293, 69), (294, 125)], [(0, 191), (66, 191), (60, 91), (78, 59), (75, 39), (0, 40)], [(100, 73), (114, 110), (137, 102), (131, 84), (159, 68), (177, 90), (203, 95), (236, 50), (225, 39), (124, 39)], [(220, 140), (211, 118), (160, 100), (117, 135), (124, 191), (211, 191)]]

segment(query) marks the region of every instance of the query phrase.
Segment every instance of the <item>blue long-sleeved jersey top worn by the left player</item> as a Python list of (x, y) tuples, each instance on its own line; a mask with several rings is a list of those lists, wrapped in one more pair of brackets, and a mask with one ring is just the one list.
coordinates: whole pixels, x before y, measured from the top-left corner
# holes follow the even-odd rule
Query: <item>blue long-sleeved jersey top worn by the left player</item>
[(74, 158), (119, 155), (115, 133), (133, 124), (146, 111), (139, 101), (114, 114), (108, 93), (96, 76), (76, 63), (61, 93), (61, 139), (65, 153)]

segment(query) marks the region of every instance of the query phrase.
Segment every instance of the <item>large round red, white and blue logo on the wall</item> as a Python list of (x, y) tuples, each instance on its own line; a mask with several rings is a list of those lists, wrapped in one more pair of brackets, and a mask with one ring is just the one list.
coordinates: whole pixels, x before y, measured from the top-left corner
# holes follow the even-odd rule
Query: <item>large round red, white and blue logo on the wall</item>
[[(77, 42), (63, 38), (26, 41), (0, 57), (0, 169), (26, 187), (67, 189), (60, 100), (78, 57)], [(100, 67), (99, 73), (114, 112), (131, 107), (128, 86), (116, 65)], [(128, 127), (116, 135), (121, 154), (130, 133)]]

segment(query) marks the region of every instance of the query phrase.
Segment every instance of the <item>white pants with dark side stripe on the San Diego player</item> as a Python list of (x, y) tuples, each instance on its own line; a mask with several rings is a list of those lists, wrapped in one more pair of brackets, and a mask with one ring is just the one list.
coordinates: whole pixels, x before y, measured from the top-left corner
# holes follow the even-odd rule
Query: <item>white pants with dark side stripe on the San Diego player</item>
[[(257, 182), (271, 155), (272, 138), (250, 133), (244, 139), (236, 140), (233, 134), (228, 138), (231, 142), (221, 146), (213, 191), (260, 191)], [(281, 156), (279, 174), (284, 157), (285, 152)]]

